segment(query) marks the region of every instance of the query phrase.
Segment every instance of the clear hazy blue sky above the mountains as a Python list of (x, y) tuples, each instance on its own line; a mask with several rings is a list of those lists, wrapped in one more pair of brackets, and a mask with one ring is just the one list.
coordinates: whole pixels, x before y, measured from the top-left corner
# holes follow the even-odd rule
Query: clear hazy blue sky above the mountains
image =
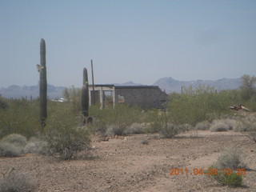
[(0, 87), (256, 75), (255, 0), (0, 0)]

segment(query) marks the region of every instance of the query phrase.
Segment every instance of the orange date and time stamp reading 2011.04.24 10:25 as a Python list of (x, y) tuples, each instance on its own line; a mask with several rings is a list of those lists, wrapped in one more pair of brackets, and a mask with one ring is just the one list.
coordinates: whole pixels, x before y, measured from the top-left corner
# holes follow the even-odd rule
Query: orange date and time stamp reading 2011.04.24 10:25
[[(230, 175), (234, 172), (234, 170), (231, 169), (223, 169), (223, 170), (217, 170), (214, 168), (209, 168), (208, 170), (203, 170), (198, 169), (198, 168), (194, 168), (193, 170), (189, 170), (187, 168), (185, 169), (170, 169), (170, 175), (189, 175), (189, 174), (193, 174), (193, 175), (217, 175), (217, 174), (227, 174)], [(234, 173), (236, 173), (237, 175), (246, 175), (246, 169), (237, 169)]]

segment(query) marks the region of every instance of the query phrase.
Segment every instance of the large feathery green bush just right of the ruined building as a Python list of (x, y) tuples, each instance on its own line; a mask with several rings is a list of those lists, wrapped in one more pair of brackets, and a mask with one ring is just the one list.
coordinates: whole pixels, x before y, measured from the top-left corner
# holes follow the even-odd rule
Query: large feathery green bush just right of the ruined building
[(226, 106), (231, 103), (225, 92), (217, 93), (212, 87), (199, 86), (185, 89), (182, 94), (170, 94), (167, 109), (176, 124), (195, 126), (229, 113)]

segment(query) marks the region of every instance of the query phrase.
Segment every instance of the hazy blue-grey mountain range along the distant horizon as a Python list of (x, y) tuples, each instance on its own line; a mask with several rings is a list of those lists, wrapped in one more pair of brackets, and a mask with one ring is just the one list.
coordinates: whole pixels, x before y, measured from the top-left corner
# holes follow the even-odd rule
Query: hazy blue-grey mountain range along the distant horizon
[[(143, 86), (139, 83), (126, 82), (114, 83), (115, 86)], [(241, 86), (241, 78), (222, 78), (216, 81), (211, 80), (197, 80), (197, 81), (178, 81), (174, 78), (160, 78), (154, 82), (154, 86), (159, 86), (160, 89), (169, 93), (180, 93), (182, 87), (197, 87), (197, 86), (212, 86), (216, 90), (237, 90)], [(48, 85), (48, 97), (50, 99), (62, 98), (62, 92), (66, 89), (65, 86)], [(0, 95), (4, 98), (38, 98), (39, 86), (9, 86), (7, 88), (0, 88)]]

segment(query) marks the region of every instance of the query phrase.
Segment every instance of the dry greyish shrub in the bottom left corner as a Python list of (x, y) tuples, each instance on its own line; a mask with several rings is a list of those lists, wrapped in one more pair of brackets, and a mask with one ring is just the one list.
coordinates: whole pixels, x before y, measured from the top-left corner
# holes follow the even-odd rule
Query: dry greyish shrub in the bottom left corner
[(3, 174), (0, 179), (0, 192), (32, 192), (34, 184), (29, 182), (23, 174), (17, 174), (10, 170), (7, 175)]

